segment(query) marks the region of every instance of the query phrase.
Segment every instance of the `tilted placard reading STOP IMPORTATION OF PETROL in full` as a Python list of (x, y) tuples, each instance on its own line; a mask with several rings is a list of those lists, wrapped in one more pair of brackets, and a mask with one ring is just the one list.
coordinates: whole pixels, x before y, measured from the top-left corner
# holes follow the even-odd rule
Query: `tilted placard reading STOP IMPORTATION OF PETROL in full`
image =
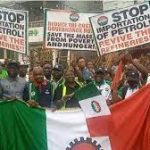
[(150, 41), (149, 2), (90, 17), (90, 22), (101, 55)]

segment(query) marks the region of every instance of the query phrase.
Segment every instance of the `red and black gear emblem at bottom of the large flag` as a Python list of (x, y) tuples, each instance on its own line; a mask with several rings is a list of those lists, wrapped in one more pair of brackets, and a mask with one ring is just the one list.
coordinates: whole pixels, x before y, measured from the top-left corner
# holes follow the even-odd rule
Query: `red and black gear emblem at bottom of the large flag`
[(102, 146), (98, 144), (96, 140), (92, 138), (80, 137), (79, 140), (76, 138), (73, 142), (70, 142), (69, 147), (66, 150), (103, 150)]

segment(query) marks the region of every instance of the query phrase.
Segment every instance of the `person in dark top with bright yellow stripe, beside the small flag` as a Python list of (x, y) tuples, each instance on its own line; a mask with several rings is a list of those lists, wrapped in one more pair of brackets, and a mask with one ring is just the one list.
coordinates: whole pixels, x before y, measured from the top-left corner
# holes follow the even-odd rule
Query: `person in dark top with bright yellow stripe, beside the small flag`
[(65, 82), (60, 84), (55, 90), (54, 100), (57, 108), (79, 107), (78, 101), (74, 99), (73, 94), (82, 85), (75, 81), (73, 70), (67, 70), (64, 74)]

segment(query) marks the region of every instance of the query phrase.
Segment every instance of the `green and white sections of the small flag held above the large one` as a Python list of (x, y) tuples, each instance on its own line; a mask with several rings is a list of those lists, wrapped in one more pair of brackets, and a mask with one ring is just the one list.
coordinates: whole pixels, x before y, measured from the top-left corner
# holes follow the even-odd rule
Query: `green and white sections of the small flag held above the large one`
[(106, 100), (94, 83), (90, 83), (75, 93), (86, 118), (110, 115)]

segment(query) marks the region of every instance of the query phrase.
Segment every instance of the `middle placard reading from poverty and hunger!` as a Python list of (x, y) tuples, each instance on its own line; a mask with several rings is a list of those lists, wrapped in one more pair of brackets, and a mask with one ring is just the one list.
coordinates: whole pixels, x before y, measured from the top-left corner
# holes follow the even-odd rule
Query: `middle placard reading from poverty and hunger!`
[(45, 48), (96, 51), (89, 22), (93, 15), (45, 9)]

